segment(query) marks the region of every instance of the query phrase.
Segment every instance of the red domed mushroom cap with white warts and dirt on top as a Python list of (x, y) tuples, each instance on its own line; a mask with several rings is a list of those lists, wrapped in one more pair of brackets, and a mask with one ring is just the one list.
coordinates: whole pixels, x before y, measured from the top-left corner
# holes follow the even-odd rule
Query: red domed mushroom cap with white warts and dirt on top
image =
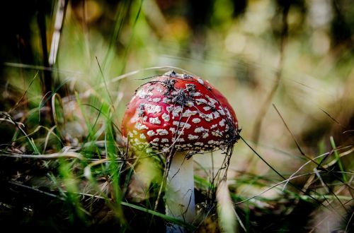
[(122, 135), (139, 150), (200, 152), (234, 145), (239, 129), (222, 93), (199, 77), (170, 71), (136, 90)]

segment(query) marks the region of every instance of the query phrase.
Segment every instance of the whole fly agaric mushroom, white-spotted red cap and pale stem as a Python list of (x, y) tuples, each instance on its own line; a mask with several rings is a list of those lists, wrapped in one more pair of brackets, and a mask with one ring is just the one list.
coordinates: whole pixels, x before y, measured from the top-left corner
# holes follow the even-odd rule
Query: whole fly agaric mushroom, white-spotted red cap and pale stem
[(231, 148), (239, 129), (222, 93), (202, 78), (169, 71), (136, 90), (122, 120), (122, 135), (135, 150), (171, 155), (165, 168), (169, 171), (166, 214), (191, 223), (195, 217), (192, 155)]

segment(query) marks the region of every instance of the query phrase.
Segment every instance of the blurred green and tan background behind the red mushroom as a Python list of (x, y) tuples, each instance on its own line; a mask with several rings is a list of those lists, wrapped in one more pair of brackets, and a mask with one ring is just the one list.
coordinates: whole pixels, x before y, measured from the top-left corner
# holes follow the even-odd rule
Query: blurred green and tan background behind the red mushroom
[[(0, 110), (28, 133), (52, 124), (45, 114), (52, 93), (62, 98), (62, 130), (72, 145), (87, 133), (90, 116), (70, 100), (94, 95), (113, 104), (119, 128), (143, 79), (174, 69), (219, 89), (235, 109), (244, 141), (284, 177), (300, 168), (313, 172), (316, 164), (301, 167), (308, 157), (331, 157), (338, 148), (346, 154), (333, 169), (353, 179), (350, 0), (14, 0), (0, 11)], [(89, 103), (100, 109), (100, 101)], [(1, 144), (11, 143), (16, 129), (4, 122), (0, 129)], [(235, 145), (229, 179), (234, 193), (251, 197), (269, 186), (250, 186), (247, 176), (282, 179), (244, 141)], [(219, 155), (213, 155), (215, 169)], [(202, 156), (195, 155), (202, 167), (197, 174), (206, 176), (212, 159)], [(294, 182), (305, 186), (308, 179)]]

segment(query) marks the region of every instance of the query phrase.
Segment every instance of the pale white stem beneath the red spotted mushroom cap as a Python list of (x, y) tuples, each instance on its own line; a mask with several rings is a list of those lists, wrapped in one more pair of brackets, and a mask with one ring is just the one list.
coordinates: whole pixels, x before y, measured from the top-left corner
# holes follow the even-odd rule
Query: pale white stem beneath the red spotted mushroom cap
[[(171, 161), (166, 184), (166, 214), (191, 223), (195, 218), (193, 157), (176, 152)], [(168, 225), (167, 232), (184, 232), (178, 225)]]

